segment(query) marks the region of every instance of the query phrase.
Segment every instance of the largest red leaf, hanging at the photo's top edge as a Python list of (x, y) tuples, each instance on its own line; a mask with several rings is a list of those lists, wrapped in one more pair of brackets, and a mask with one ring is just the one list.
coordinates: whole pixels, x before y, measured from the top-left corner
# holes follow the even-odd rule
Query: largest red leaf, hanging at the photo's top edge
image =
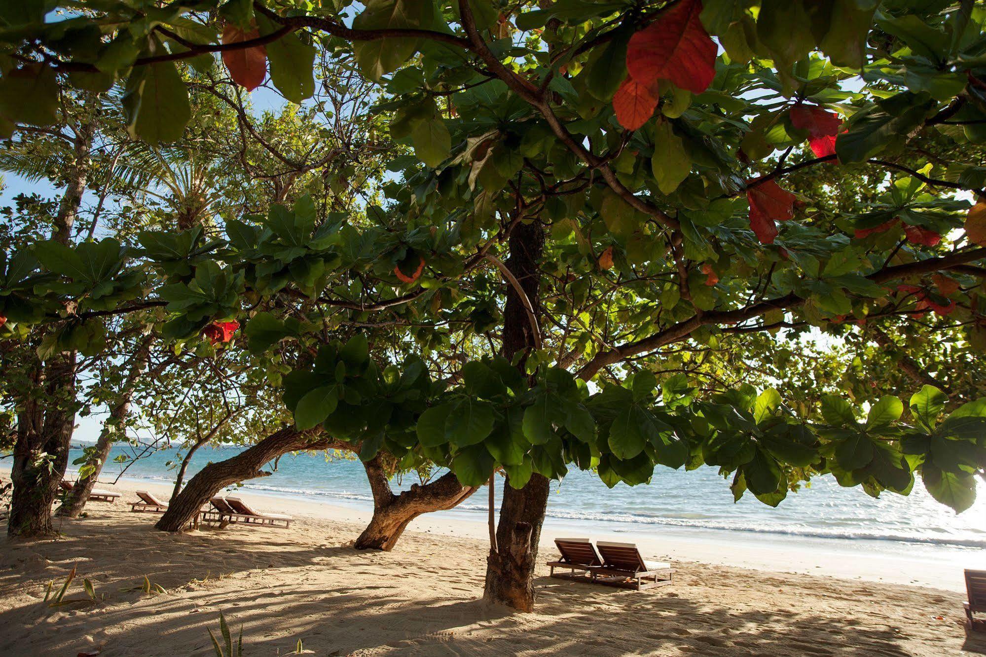
[(716, 76), (716, 44), (705, 32), (701, 0), (678, 0), (657, 21), (630, 37), (626, 67), (634, 80), (650, 86), (669, 80), (701, 94)]

